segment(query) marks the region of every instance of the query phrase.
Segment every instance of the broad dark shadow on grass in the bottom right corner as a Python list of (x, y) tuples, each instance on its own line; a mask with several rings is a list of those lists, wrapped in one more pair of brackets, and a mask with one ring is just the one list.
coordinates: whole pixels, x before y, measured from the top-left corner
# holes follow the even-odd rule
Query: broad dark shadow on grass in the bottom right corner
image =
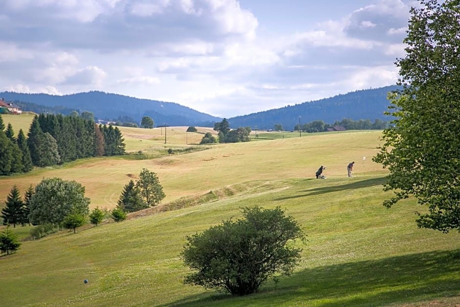
[(277, 287), (269, 283), (252, 295), (207, 292), (163, 306), (388, 306), (429, 302), (460, 296), (459, 260), (460, 249), (322, 266), (283, 277)]

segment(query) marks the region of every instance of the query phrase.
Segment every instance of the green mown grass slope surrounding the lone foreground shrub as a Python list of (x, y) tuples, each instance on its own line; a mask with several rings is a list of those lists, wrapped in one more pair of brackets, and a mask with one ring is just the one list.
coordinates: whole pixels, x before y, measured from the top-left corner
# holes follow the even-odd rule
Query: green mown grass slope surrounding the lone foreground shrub
[[(217, 201), (23, 242), (0, 258), (0, 298), (6, 306), (460, 303), (459, 234), (418, 229), (414, 200), (385, 209), (381, 183), (381, 175), (260, 181)], [(296, 272), (247, 297), (184, 285), (185, 236), (252, 205), (280, 206), (305, 228)]]

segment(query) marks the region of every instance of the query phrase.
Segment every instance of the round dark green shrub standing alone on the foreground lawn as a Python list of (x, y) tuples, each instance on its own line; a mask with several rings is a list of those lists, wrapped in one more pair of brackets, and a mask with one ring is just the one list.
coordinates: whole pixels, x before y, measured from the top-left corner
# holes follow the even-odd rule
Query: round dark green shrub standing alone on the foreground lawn
[(294, 239), (304, 240), (294, 218), (279, 207), (244, 208), (242, 213), (241, 219), (187, 236), (181, 256), (193, 272), (184, 283), (246, 295), (274, 274), (293, 271), (301, 253)]

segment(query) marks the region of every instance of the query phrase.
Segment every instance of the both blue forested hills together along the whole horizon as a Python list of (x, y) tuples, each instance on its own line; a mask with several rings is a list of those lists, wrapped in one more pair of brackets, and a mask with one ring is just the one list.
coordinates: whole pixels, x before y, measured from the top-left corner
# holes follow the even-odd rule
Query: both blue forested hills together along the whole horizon
[[(383, 113), (388, 110), (387, 94), (397, 87), (386, 86), (377, 89), (360, 90), (340, 94), (330, 98), (289, 105), (279, 109), (227, 118), (231, 128), (250, 126), (253, 129), (273, 129), (275, 124), (292, 130), (301, 124), (313, 120), (322, 120), (333, 124), (343, 118), (353, 120), (375, 119), (389, 120)], [(217, 118), (174, 102), (139, 99), (119, 94), (98, 91), (70, 95), (22, 94), (0, 92), (0, 98), (6, 101), (27, 102), (24, 111), (47, 110), (51, 113), (69, 114), (72, 110), (89, 111), (98, 119), (133, 118), (137, 123), (144, 116), (154, 119), (158, 125), (168, 126), (207, 126), (213, 127)], [(27, 110), (30, 108), (30, 110)], [(40, 111), (43, 112), (43, 111)], [(300, 118), (299, 118), (300, 117)]]

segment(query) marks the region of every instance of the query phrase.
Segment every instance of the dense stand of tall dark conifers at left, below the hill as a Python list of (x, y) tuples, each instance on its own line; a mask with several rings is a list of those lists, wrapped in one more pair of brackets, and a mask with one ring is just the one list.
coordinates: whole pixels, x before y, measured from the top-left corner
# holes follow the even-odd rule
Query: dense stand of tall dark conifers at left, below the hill
[(118, 127), (97, 125), (92, 119), (62, 114), (36, 115), (27, 137), (17, 136), (0, 116), (0, 175), (28, 172), (33, 166), (59, 165), (76, 159), (125, 153)]

